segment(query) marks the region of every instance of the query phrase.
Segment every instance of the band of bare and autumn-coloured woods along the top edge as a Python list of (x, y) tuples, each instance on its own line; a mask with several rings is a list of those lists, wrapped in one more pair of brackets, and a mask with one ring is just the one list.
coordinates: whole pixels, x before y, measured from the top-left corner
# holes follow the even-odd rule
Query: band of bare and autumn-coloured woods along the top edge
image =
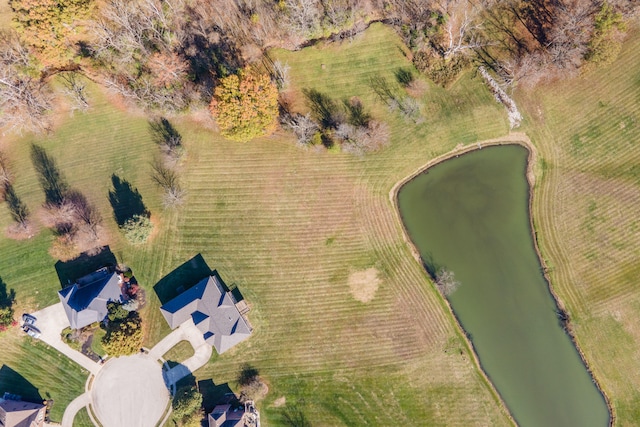
[[(0, 127), (16, 131), (50, 128), (56, 74), (66, 76), (74, 108), (88, 106), (74, 78), (81, 73), (146, 110), (183, 111), (209, 104), (241, 69), (268, 73), (282, 89), (286, 64), (271, 62), (268, 49), (353, 38), (375, 21), (392, 25), (416, 68), (438, 84), (475, 64), (505, 88), (531, 88), (611, 62), (638, 11), (633, 0), (11, 0), (10, 7), (15, 30), (0, 31)], [(284, 117), (289, 128), (310, 139), (309, 126), (293, 117)]]

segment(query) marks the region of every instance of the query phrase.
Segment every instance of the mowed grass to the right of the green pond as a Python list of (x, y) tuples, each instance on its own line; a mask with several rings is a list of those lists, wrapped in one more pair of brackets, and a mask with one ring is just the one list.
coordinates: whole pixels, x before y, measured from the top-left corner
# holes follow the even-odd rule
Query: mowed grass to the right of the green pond
[(611, 66), (517, 98), (545, 159), (534, 220), (619, 425), (640, 422), (640, 33)]

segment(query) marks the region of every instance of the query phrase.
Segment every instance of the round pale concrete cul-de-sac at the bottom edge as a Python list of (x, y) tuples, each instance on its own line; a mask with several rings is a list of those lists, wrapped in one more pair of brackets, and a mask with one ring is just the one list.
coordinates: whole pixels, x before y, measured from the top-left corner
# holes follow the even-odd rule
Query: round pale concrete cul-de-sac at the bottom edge
[(148, 355), (118, 357), (93, 380), (92, 407), (104, 427), (154, 427), (169, 403), (162, 367)]

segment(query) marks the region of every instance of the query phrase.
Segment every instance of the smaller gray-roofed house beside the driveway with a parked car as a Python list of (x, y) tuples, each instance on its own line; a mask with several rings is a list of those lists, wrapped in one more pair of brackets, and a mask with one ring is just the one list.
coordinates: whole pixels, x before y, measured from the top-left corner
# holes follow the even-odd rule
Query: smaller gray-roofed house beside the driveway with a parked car
[(121, 281), (113, 269), (103, 267), (58, 292), (71, 328), (80, 329), (104, 320), (108, 313), (107, 303), (123, 301)]

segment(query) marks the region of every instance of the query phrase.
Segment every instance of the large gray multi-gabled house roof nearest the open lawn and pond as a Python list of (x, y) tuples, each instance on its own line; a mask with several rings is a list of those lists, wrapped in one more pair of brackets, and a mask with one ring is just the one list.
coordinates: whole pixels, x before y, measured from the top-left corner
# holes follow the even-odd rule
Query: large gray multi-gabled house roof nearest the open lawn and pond
[(204, 340), (218, 353), (224, 353), (251, 335), (251, 327), (236, 304), (214, 272), (160, 307), (160, 311), (171, 329), (193, 319)]

